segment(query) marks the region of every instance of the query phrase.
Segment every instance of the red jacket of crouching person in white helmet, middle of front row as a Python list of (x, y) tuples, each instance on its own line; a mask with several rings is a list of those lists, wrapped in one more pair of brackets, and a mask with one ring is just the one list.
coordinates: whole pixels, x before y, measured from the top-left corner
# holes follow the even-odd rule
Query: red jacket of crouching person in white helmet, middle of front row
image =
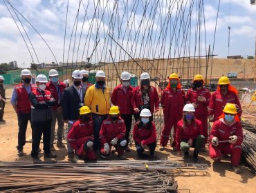
[(156, 125), (152, 122), (152, 128), (147, 130), (146, 128), (139, 128), (138, 123), (134, 125), (133, 130), (134, 141), (137, 143), (143, 143), (148, 145), (156, 141)]

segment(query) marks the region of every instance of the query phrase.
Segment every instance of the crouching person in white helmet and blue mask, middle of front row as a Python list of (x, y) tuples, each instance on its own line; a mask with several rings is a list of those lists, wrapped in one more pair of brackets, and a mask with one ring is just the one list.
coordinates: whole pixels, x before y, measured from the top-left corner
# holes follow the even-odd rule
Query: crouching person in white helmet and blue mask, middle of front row
[(138, 157), (140, 159), (147, 158), (144, 150), (149, 150), (149, 159), (154, 159), (154, 152), (156, 149), (156, 126), (153, 121), (149, 121), (152, 116), (150, 110), (143, 109), (140, 112), (140, 121), (134, 125), (134, 141)]

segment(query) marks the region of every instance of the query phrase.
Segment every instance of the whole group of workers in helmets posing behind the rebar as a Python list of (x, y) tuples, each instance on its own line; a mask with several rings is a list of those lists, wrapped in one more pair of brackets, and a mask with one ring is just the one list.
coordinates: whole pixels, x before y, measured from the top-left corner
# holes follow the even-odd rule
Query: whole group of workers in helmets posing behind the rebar
[[(219, 161), (221, 154), (231, 154), (232, 166), (239, 172), (237, 165), (243, 140), (239, 123), (241, 105), (237, 90), (228, 77), (221, 77), (217, 91), (210, 94), (204, 87), (202, 75), (196, 74), (192, 88), (185, 94), (179, 75), (172, 73), (159, 100), (147, 72), (140, 75), (140, 84), (136, 88), (131, 86), (129, 72), (122, 72), (120, 85), (112, 93), (102, 70), (96, 73), (93, 85), (88, 83), (88, 71), (75, 70), (73, 84), (67, 88), (66, 83), (60, 81), (57, 70), (50, 70), (48, 76), (49, 81), (44, 74), (39, 74), (34, 85), (30, 70), (24, 69), (21, 71), (22, 83), (12, 92), (11, 103), (19, 122), (18, 156), (24, 154), (26, 128), (30, 121), (33, 159), (39, 159), (42, 134), (44, 156), (55, 158), (53, 141), (57, 121), (57, 147), (65, 148), (62, 137), (66, 123), (68, 159), (73, 163), (78, 159), (95, 161), (98, 150), (103, 158), (117, 152), (119, 159), (125, 159), (124, 152), (130, 151), (128, 143), (134, 116), (136, 124), (132, 136), (138, 157), (153, 159), (156, 148), (153, 114), (161, 106), (164, 115), (161, 151), (165, 150), (174, 128), (170, 145), (178, 155), (183, 152), (184, 159), (189, 159), (189, 149), (194, 147), (193, 160), (197, 163), (199, 152), (210, 141), (210, 157)], [(214, 121), (209, 136), (208, 119)], [(145, 154), (145, 150), (149, 154)]]

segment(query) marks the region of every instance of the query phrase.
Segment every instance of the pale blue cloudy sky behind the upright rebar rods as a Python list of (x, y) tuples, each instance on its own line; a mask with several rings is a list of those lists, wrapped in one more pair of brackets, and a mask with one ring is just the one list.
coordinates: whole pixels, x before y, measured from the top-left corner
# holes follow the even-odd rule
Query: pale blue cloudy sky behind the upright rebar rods
[[(199, 0), (194, 1), (201, 2)], [(44, 43), (39, 34), (35, 32), (28, 22), (16, 12), (20, 19), (19, 21), (10, 4), (5, 4), (5, 2), (7, 3), (6, 0), (0, 1), (0, 63), (17, 61), (19, 67), (26, 68), (32, 61), (31, 55), (35, 63), (51, 63), (52, 61), (59, 63), (62, 61), (76, 60), (86, 61), (86, 58), (90, 56), (92, 56), (92, 62), (98, 63), (99, 61), (111, 60), (108, 54), (109, 50), (111, 50), (115, 61), (129, 59), (129, 55), (125, 54), (124, 50), (119, 48), (107, 34), (110, 34), (113, 39), (116, 39), (125, 50), (129, 51), (132, 57), (158, 58), (180, 56), (178, 51), (175, 51), (174, 41), (172, 42), (170, 40), (172, 37), (171, 27), (166, 27), (171, 25), (171, 23), (168, 24), (165, 22), (168, 12), (167, 8), (170, 6), (170, 4), (166, 3), (168, 1), (165, 0), (161, 1), (155, 12), (149, 7), (156, 7), (156, 1), (150, 1), (143, 22), (141, 20), (143, 17), (143, 6), (147, 5), (149, 0), (129, 0), (127, 4), (127, 0), (100, 0), (100, 3), (98, 3), (99, 1), (97, 0), (10, 0), (10, 4), (23, 14), (32, 24), (33, 28), (44, 37), (48, 45)], [(117, 2), (118, 6), (116, 6)], [(170, 1), (170, 3), (172, 2), (174, 1)], [(68, 19), (66, 20), (67, 3)], [(192, 48), (195, 44), (196, 46), (200, 44), (202, 48), (205, 47), (205, 50), (208, 50), (208, 46), (210, 45), (211, 51), (213, 50), (213, 54), (217, 54), (217, 57), (226, 58), (228, 53), (230, 55), (241, 55), (243, 57), (247, 57), (248, 55), (254, 56), (256, 6), (251, 6), (250, 0), (221, 0), (214, 41), (218, 3), (219, 1), (217, 0), (203, 1), (205, 28), (201, 28), (203, 32), (200, 42), (198, 41), (196, 43), (195, 40), (191, 41), (191, 55), (197, 54), (197, 51)], [(80, 6), (77, 25), (74, 26), (79, 4), (82, 6)], [(136, 10), (133, 10), (134, 4), (136, 4)], [(24, 35), (28, 48), (6, 5), (10, 9), (12, 16), (15, 17), (15, 21), (17, 21), (17, 25)], [(94, 12), (95, 6), (98, 8), (98, 12)], [(116, 9), (114, 13), (119, 16), (119, 20), (110, 20), (110, 18), (113, 17), (111, 13), (113, 13), (114, 8), (117, 7), (118, 9)], [(185, 5), (183, 5), (183, 7), (186, 12), (186, 17), (188, 16), (189, 9), (185, 8)], [(172, 12), (172, 18), (175, 17), (177, 12), (177, 10)], [(152, 19), (153, 14), (154, 19)], [(85, 15), (86, 17), (84, 17)], [(194, 23), (196, 23), (196, 14), (192, 12), (191, 15), (191, 37), (195, 37), (196, 27)], [(127, 24), (125, 21), (128, 21), (128, 18), (132, 18), (133, 22)], [(114, 24), (109, 21), (113, 21)], [(65, 23), (66, 39), (64, 46)], [(149, 25), (148, 23), (150, 27), (147, 26)], [(167, 30), (166, 35), (164, 33), (165, 28), (161, 28), (161, 25), (165, 26), (166, 29), (170, 28), (170, 31)], [(228, 26), (230, 26), (229, 49)], [(127, 29), (131, 34), (127, 33)], [(72, 31), (73, 35), (71, 36)], [(152, 32), (151, 36), (148, 31)], [(32, 45), (26, 37), (25, 32), (28, 34)], [(82, 38), (80, 43), (78, 43), (80, 33)], [(184, 33), (181, 32), (180, 34), (181, 37), (183, 37)], [(206, 35), (205, 37), (204, 34)], [(127, 38), (121, 39), (122, 36)], [(181, 40), (181, 37), (179, 40)], [(163, 41), (162, 43), (158, 43), (161, 39), (164, 39), (166, 43), (163, 43)], [(99, 43), (97, 45), (98, 41)], [(173, 45), (170, 45), (172, 44), (171, 42)], [(176, 43), (178, 43), (178, 41)], [(185, 44), (179, 41), (178, 44), (183, 47), (187, 45), (188, 42)], [(51, 48), (54, 57), (48, 46)], [(35, 52), (33, 52), (33, 49), (35, 49)], [(30, 50), (30, 52), (28, 50)], [(203, 55), (205, 52), (202, 51), (198, 54)], [(185, 51), (185, 56), (188, 56), (188, 50)]]

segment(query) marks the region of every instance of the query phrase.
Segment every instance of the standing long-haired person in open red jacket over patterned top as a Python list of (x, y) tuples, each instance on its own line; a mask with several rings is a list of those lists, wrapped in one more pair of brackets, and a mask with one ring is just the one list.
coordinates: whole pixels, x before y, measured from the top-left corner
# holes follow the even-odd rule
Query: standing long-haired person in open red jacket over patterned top
[(158, 112), (159, 96), (156, 88), (150, 85), (150, 76), (147, 72), (140, 74), (140, 85), (134, 88), (134, 118), (136, 121), (140, 120), (140, 112), (143, 109), (150, 110), (153, 120), (153, 113)]

